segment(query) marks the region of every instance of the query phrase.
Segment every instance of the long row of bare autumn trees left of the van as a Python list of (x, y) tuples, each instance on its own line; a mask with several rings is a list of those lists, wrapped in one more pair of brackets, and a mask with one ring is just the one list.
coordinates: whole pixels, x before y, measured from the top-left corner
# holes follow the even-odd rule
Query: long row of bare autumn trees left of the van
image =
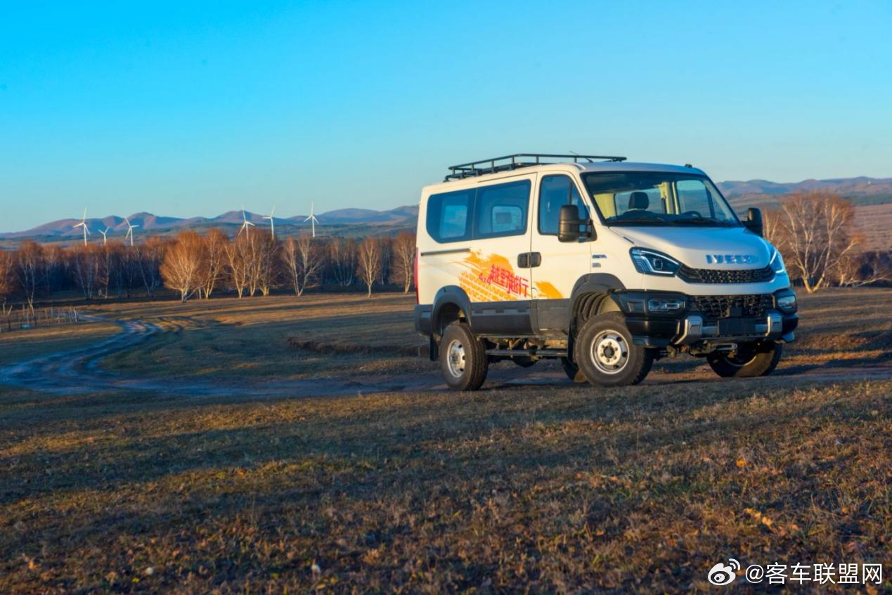
[(23, 242), (0, 251), (0, 302), (18, 297), (33, 308), (37, 296), (77, 288), (85, 299), (153, 296), (161, 285), (180, 299), (209, 298), (219, 291), (239, 297), (268, 295), (287, 287), (296, 295), (318, 285), (412, 286), (415, 236), (344, 238), (287, 237), (262, 229), (230, 239), (219, 229), (153, 236), (143, 244), (117, 242), (63, 248)]

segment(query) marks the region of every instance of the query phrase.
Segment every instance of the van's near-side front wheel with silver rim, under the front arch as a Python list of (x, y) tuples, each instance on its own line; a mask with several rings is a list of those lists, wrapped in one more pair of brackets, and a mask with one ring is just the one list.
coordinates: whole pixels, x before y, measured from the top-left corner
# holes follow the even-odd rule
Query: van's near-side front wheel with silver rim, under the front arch
[[(596, 346), (597, 342), (597, 346)], [(595, 349), (601, 353), (596, 362)], [(608, 362), (615, 358), (615, 365)], [(653, 352), (632, 343), (632, 333), (620, 312), (607, 312), (586, 320), (576, 335), (574, 362), (590, 384), (627, 386), (648, 376)]]

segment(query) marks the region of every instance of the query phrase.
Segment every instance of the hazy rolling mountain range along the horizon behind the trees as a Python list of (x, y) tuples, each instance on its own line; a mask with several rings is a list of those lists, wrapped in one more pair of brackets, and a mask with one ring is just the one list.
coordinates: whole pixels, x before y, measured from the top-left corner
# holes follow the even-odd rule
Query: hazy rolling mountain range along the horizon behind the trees
[[(855, 222), (863, 228), (871, 247), (883, 249), (889, 244), (889, 227), (892, 227), (892, 178), (833, 178), (807, 179), (796, 183), (780, 183), (762, 179), (747, 181), (727, 181), (718, 184), (723, 194), (737, 211), (747, 207), (777, 206), (783, 195), (802, 190), (830, 190), (850, 199), (855, 204)], [(246, 212), (249, 221), (257, 226), (268, 226), (268, 219), (259, 213)], [(371, 209), (339, 209), (318, 213), (317, 231), (326, 236), (368, 236), (392, 234), (405, 229), (414, 230), (418, 216), (415, 205), (397, 207), (387, 211)], [(169, 235), (183, 229), (202, 231), (220, 227), (235, 234), (242, 225), (242, 211), (227, 211), (217, 217), (163, 217), (149, 212), (137, 212), (128, 216), (136, 227), (136, 235)], [(304, 222), (306, 215), (275, 218), (277, 233), (291, 235), (309, 229)], [(74, 225), (79, 219), (58, 219), (26, 231), (0, 234), (4, 245), (18, 244), (23, 239), (32, 238), (41, 242), (71, 242), (81, 236)], [(98, 239), (98, 231), (109, 228), (109, 236), (120, 239), (127, 232), (123, 217), (109, 216), (102, 219), (87, 219), (87, 226)]]

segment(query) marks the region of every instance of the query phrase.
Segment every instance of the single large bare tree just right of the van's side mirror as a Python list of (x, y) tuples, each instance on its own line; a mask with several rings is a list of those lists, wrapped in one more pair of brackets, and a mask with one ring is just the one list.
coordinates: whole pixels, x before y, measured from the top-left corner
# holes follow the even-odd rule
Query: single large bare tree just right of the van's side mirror
[(797, 193), (781, 202), (780, 251), (791, 276), (805, 291), (827, 285), (834, 270), (855, 250), (852, 203), (824, 190)]

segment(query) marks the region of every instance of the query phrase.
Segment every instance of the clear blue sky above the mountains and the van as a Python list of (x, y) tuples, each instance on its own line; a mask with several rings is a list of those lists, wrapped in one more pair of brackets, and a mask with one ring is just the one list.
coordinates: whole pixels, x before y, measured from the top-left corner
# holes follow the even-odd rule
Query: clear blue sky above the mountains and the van
[(0, 231), (417, 202), (503, 153), (892, 176), (892, 3), (11, 3)]

